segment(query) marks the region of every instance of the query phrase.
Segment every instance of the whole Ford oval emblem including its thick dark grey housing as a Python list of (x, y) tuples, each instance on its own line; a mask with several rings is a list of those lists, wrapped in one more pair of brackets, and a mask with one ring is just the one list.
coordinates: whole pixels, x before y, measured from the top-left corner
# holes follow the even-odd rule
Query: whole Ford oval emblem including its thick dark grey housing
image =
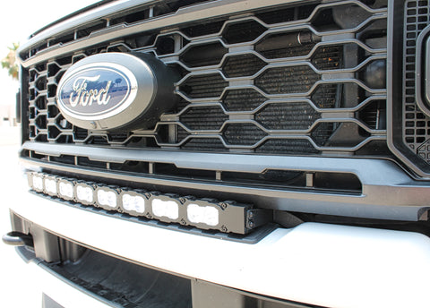
[(56, 91), (58, 108), (66, 120), (86, 129), (149, 127), (168, 108), (165, 101), (173, 95), (172, 73), (167, 71), (166, 65), (150, 55), (88, 56), (61, 78)]

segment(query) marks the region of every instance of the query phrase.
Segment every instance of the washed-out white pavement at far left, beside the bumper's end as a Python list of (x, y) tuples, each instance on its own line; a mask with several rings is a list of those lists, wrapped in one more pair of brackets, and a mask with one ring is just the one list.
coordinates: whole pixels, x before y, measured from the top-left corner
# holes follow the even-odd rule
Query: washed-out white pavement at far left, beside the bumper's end
[[(0, 236), (11, 231), (9, 204), (14, 202), (17, 185), (22, 183), (18, 164), (20, 126), (0, 126)], [(0, 242), (0, 307), (41, 307), (41, 295), (31, 295), (26, 263), (12, 246)], [(40, 298), (40, 300), (39, 300)]]

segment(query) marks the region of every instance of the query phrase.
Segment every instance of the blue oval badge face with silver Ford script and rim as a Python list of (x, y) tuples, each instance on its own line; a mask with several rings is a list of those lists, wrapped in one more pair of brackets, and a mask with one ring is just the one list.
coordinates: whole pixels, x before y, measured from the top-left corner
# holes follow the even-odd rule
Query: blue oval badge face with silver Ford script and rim
[(60, 86), (57, 98), (77, 116), (101, 116), (129, 98), (131, 81), (115, 67), (91, 65), (72, 73)]

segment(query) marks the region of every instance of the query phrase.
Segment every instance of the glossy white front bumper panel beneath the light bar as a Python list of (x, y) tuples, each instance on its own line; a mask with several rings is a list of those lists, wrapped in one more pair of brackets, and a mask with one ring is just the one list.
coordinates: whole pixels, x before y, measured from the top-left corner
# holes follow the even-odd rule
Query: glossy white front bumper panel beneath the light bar
[(109, 218), (30, 193), (12, 209), (99, 251), (256, 294), (343, 308), (430, 305), (430, 239), (417, 233), (304, 223), (240, 244)]

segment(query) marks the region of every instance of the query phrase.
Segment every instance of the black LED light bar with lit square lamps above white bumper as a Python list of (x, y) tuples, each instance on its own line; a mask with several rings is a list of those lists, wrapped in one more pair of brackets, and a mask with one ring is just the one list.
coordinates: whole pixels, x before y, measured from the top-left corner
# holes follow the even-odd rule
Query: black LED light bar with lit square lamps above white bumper
[(235, 201), (146, 192), (38, 172), (28, 173), (28, 180), (30, 188), (38, 193), (165, 223), (245, 235), (271, 221), (269, 210), (253, 209), (252, 205)]

